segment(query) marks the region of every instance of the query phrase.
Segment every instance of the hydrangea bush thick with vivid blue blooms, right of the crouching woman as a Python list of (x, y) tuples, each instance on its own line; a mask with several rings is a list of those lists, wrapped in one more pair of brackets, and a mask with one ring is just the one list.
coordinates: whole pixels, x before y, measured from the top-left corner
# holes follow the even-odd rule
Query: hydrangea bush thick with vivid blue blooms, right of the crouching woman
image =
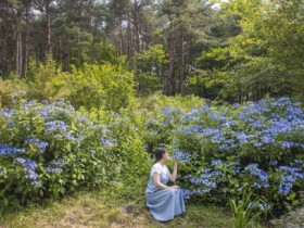
[(304, 187), (304, 112), (287, 98), (180, 114), (169, 147), (186, 197), (227, 203), (244, 188), (282, 210)]

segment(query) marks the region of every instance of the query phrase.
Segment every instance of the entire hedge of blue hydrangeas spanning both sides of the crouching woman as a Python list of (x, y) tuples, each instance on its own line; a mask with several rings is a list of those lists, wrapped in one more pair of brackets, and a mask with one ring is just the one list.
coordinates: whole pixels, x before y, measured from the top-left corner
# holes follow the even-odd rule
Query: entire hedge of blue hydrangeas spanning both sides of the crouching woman
[(246, 189), (253, 199), (264, 195), (261, 208), (300, 203), (300, 103), (281, 98), (193, 109), (154, 105), (134, 103), (113, 113), (76, 111), (59, 100), (1, 110), (0, 203), (18, 206), (117, 182), (124, 189), (144, 186), (157, 147), (179, 160), (179, 185), (190, 201), (228, 205)]

